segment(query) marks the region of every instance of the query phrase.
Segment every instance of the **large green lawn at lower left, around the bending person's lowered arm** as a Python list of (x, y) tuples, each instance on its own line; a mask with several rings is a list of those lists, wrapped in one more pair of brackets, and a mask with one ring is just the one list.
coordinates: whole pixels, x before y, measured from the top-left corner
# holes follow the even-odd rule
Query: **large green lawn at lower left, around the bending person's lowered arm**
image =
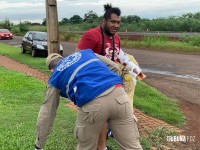
[[(45, 84), (22, 73), (0, 67), (0, 149), (33, 149), (35, 125)], [(76, 113), (61, 100), (53, 132), (45, 149), (74, 150)]]

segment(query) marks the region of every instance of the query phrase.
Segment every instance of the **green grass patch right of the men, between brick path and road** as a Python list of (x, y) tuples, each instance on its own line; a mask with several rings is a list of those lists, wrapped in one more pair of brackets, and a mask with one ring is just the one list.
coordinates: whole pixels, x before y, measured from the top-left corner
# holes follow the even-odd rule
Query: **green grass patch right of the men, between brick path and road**
[(181, 127), (184, 123), (184, 116), (179, 109), (178, 101), (168, 98), (141, 81), (137, 82), (134, 106), (149, 116), (177, 127)]

